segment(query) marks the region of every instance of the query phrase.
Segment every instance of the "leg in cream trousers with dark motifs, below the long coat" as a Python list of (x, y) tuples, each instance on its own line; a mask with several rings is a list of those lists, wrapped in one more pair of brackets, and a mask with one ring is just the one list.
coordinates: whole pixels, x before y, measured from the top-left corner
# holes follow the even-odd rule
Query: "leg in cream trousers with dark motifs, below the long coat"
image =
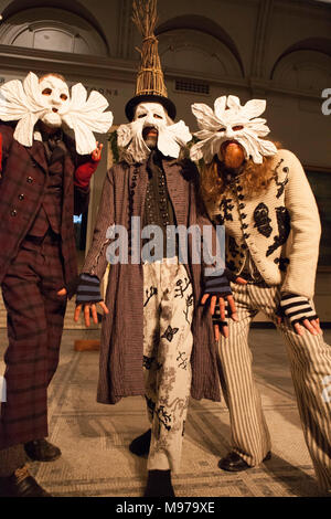
[(191, 389), (192, 285), (183, 265), (161, 265), (160, 342), (149, 470), (177, 472)]

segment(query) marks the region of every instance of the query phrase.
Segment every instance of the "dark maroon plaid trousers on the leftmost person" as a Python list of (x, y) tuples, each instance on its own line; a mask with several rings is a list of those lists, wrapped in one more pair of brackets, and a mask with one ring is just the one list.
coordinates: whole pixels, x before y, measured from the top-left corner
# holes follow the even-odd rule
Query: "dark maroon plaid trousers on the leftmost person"
[(60, 237), (25, 239), (2, 283), (9, 346), (0, 449), (47, 436), (47, 386), (58, 364), (66, 296)]

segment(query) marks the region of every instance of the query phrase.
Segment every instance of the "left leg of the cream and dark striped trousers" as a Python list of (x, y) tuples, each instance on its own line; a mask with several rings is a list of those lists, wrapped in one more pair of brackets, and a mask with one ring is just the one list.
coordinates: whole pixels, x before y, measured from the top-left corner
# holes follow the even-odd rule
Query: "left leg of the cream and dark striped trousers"
[(248, 346), (249, 324), (257, 311), (250, 300), (250, 286), (232, 284), (232, 289), (239, 320), (229, 319), (229, 337), (220, 339), (218, 373), (229, 411), (233, 451), (249, 466), (255, 466), (270, 451), (270, 436), (253, 377)]

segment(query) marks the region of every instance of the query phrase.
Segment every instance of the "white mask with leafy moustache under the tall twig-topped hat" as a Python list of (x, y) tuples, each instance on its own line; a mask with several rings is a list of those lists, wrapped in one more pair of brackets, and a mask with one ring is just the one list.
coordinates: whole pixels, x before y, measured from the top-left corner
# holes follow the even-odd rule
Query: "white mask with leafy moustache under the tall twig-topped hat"
[(157, 148), (166, 157), (178, 158), (181, 147), (192, 139), (183, 120), (172, 125), (163, 106), (159, 103), (140, 103), (132, 123), (121, 125), (118, 130), (118, 146), (127, 148), (136, 162), (143, 162), (151, 151), (145, 134), (147, 128), (157, 130)]

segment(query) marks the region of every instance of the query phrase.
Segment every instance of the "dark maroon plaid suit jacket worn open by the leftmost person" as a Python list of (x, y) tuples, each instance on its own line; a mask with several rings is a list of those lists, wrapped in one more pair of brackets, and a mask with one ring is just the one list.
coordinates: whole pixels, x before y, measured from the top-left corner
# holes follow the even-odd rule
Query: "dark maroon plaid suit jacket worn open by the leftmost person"
[[(31, 148), (20, 145), (13, 138), (14, 128), (0, 124), (2, 136), (2, 171), (0, 179), (0, 283), (9, 264), (15, 258), (20, 245), (28, 234), (40, 209), (46, 186), (49, 166), (41, 141), (33, 141)], [(63, 206), (62, 206), (62, 255), (64, 278), (68, 297), (74, 294), (77, 278), (76, 244), (73, 215), (81, 214), (88, 206), (89, 191), (74, 186), (75, 169), (88, 160), (76, 153), (75, 142), (64, 135), (68, 153), (64, 159)], [(43, 171), (43, 181), (36, 174)]]

